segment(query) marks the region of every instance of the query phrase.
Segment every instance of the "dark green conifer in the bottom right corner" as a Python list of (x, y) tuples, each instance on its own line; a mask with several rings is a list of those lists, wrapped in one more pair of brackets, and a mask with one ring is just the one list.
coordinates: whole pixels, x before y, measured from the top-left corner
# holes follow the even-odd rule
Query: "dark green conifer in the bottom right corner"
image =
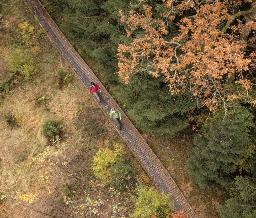
[(237, 176), (235, 186), (233, 198), (218, 208), (221, 217), (256, 218), (256, 177)]

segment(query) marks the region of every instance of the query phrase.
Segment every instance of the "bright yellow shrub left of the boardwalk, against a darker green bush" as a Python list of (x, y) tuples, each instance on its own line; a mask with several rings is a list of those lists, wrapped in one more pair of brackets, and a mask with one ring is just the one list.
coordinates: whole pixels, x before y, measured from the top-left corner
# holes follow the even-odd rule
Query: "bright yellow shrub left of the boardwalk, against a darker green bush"
[(114, 144), (115, 150), (110, 148), (103, 148), (96, 153), (92, 161), (92, 170), (96, 178), (101, 179), (102, 185), (106, 185), (110, 182), (111, 167), (114, 163), (120, 160), (122, 155), (122, 147), (117, 143)]

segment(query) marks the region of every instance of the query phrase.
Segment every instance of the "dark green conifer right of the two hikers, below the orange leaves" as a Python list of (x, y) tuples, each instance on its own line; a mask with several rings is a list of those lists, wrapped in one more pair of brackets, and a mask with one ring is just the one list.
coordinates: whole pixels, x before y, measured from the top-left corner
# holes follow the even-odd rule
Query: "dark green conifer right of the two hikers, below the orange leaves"
[(138, 73), (128, 85), (112, 88), (126, 114), (144, 132), (173, 136), (189, 126), (187, 111), (197, 104), (185, 93), (171, 95), (162, 78)]

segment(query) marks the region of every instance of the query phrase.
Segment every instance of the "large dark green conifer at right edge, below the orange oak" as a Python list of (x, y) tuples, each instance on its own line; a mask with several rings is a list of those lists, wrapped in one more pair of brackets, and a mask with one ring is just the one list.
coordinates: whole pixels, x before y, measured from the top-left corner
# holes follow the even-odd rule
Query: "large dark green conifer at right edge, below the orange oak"
[(252, 174), (256, 166), (253, 115), (243, 106), (216, 113), (193, 140), (188, 172), (200, 188), (229, 186), (235, 176)]

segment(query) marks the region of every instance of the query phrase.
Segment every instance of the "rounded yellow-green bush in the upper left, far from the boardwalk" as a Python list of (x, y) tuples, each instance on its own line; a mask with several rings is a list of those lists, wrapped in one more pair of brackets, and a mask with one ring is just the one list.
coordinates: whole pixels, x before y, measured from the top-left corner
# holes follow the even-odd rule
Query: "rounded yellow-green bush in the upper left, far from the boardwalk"
[(37, 72), (37, 65), (28, 49), (22, 47), (10, 48), (5, 54), (5, 61), (10, 71), (19, 73), (25, 80), (30, 79)]

